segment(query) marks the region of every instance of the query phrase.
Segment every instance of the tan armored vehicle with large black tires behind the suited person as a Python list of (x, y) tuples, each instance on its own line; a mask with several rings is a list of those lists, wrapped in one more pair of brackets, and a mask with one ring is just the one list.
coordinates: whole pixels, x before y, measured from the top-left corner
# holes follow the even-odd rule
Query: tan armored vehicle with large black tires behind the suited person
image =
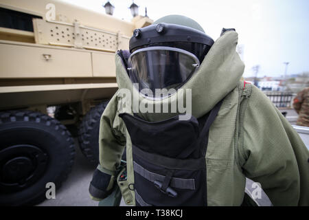
[(115, 52), (152, 21), (52, 0), (1, 0), (0, 10), (0, 204), (33, 204), (71, 170), (71, 133), (98, 162), (100, 115), (117, 90)]

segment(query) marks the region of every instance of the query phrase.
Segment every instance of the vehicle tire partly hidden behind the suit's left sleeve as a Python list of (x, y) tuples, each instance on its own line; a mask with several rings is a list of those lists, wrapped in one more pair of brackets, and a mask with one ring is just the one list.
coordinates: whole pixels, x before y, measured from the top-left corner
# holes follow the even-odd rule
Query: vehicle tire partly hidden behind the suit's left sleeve
[(84, 115), (78, 128), (80, 150), (93, 164), (99, 163), (99, 129), (101, 115), (108, 101), (102, 102)]

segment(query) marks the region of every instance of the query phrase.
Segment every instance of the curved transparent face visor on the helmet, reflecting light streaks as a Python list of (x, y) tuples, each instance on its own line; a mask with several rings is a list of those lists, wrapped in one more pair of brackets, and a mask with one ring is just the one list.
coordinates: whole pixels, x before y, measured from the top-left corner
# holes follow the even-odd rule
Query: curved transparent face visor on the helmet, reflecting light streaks
[(130, 80), (138, 83), (141, 94), (152, 98), (171, 95), (199, 65), (194, 54), (175, 47), (146, 47), (128, 58)]

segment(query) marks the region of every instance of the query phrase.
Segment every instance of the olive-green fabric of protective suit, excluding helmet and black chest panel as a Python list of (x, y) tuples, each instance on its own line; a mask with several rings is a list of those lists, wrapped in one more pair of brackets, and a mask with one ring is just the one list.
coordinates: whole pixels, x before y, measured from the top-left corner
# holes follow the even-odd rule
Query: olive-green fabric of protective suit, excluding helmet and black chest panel
[[(209, 50), (198, 72), (183, 89), (192, 89), (192, 115), (199, 118), (223, 100), (209, 129), (206, 153), (207, 205), (240, 206), (245, 177), (261, 184), (274, 206), (309, 205), (309, 152), (297, 132), (273, 103), (251, 84), (240, 81), (244, 64), (236, 53), (238, 34), (225, 32)], [(130, 135), (119, 113), (133, 113), (141, 105), (186, 100), (185, 93), (163, 100), (148, 100), (133, 88), (122, 59), (116, 55), (119, 90), (111, 98), (100, 121), (100, 166), (113, 173), (126, 146), (128, 183), (134, 184)], [(124, 96), (123, 89), (130, 91)], [(138, 113), (148, 121), (170, 118), (177, 113)], [(147, 137), (145, 137), (147, 138)], [(128, 203), (134, 203), (130, 191)], [(126, 192), (128, 195), (128, 192)], [(126, 198), (125, 198), (126, 199)]]

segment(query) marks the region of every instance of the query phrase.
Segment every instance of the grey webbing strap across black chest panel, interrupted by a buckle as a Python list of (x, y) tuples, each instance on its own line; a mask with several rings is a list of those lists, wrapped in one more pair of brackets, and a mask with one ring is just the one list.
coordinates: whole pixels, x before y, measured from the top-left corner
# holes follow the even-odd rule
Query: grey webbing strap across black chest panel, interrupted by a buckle
[[(146, 170), (146, 168), (137, 164), (137, 162), (135, 161), (133, 162), (133, 169), (136, 173), (152, 182), (156, 180), (163, 182), (163, 179), (165, 178), (165, 176), (163, 175), (152, 173), (149, 170)], [(170, 186), (174, 188), (195, 190), (195, 181), (194, 179), (172, 177), (172, 179), (170, 180)]]

